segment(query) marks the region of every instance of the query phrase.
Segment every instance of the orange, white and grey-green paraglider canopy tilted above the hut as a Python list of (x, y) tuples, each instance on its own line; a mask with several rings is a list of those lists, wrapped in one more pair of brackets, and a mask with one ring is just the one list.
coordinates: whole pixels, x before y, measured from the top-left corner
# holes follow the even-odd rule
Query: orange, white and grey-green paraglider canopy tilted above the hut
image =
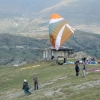
[(74, 33), (75, 29), (71, 27), (64, 18), (58, 14), (52, 14), (49, 22), (49, 35), (52, 46), (58, 50), (60, 46)]

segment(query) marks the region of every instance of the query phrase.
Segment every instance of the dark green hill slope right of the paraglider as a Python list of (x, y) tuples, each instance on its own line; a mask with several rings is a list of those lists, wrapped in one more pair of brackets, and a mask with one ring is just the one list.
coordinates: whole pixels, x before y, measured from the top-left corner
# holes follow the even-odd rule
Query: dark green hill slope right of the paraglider
[(84, 51), (91, 56), (100, 58), (100, 35), (84, 31), (76, 31), (75, 34), (65, 43), (75, 51)]

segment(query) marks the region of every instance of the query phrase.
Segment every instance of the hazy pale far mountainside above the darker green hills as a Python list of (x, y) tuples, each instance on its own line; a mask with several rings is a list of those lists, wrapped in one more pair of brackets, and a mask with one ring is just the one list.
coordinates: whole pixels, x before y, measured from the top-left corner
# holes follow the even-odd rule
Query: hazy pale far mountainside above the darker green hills
[(100, 33), (100, 0), (0, 0), (0, 33), (48, 34), (52, 13), (74, 28)]

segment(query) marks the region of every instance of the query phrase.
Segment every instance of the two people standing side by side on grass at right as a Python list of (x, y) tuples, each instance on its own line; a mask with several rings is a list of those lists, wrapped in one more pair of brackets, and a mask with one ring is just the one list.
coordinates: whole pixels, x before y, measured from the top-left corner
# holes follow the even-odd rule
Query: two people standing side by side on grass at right
[[(82, 65), (82, 77), (85, 77), (86, 74), (86, 63), (85, 63), (86, 58), (82, 61), (83, 65)], [(79, 61), (75, 62), (75, 72), (76, 72), (76, 76), (79, 75), (80, 72), (80, 68), (79, 68)]]

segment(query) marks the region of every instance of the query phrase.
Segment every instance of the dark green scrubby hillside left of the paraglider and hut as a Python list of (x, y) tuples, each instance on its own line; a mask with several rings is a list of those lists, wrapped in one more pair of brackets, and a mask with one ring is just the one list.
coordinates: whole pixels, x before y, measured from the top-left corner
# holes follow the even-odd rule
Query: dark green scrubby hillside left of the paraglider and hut
[(15, 36), (0, 35), (0, 64), (20, 64), (42, 59), (42, 50), (47, 40)]

